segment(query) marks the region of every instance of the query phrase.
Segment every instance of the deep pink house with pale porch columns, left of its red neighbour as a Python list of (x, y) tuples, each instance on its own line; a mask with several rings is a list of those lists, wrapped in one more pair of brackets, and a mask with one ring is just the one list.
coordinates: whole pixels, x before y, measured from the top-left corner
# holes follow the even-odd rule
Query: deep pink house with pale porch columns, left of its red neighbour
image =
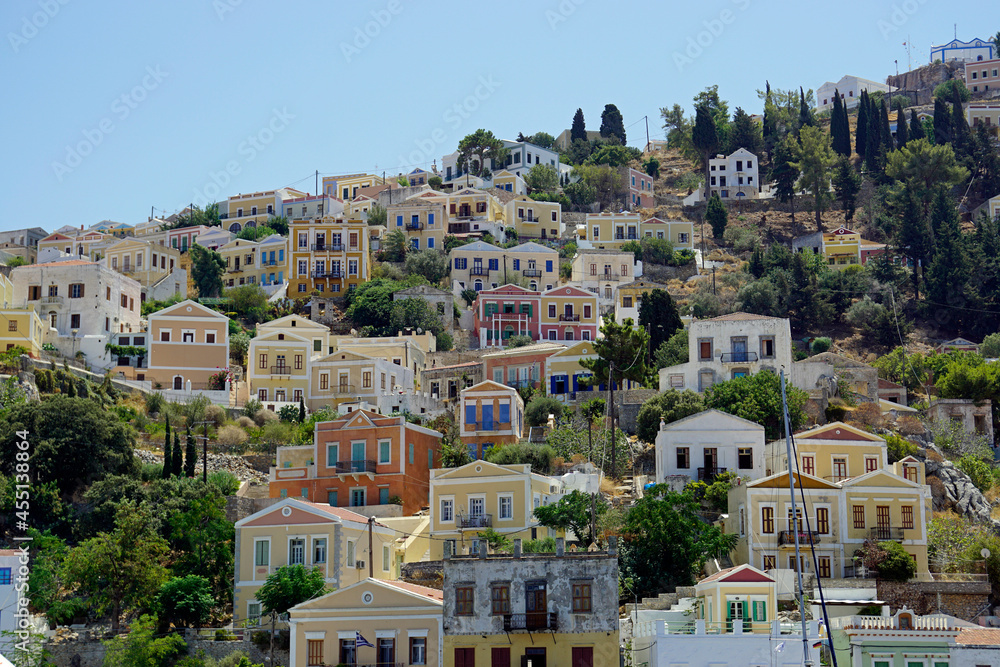
[(511, 336), (538, 340), (540, 312), (540, 292), (517, 285), (479, 292), (474, 325), (479, 347), (503, 347)]

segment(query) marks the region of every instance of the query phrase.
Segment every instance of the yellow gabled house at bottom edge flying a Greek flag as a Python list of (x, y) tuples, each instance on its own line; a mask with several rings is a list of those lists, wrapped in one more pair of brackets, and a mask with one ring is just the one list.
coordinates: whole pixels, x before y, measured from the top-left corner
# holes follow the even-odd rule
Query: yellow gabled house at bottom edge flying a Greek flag
[(434, 588), (366, 579), (298, 604), (289, 667), (440, 665), (443, 600)]

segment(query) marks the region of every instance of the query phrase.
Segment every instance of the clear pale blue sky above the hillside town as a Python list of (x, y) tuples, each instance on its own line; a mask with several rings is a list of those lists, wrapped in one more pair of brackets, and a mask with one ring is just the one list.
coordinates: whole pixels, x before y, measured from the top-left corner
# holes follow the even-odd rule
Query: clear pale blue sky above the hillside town
[(607, 103), (642, 146), (643, 116), (662, 137), (660, 107), (706, 86), (758, 113), (765, 79), (884, 80), (907, 37), (916, 67), (953, 23), (988, 39), (990, 17), (987, 1), (5, 0), (0, 229), (314, 192), (315, 170), (440, 164), (479, 127), (556, 135), (581, 107), (596, 130)]

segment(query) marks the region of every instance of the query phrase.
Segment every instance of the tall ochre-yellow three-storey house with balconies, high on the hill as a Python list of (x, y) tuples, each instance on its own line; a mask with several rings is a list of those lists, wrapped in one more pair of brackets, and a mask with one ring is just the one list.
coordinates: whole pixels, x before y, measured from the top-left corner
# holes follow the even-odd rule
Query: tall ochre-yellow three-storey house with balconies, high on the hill
[(291, 220), (288, 296), (342, 296), (367, 282), (371, 271), (369, 230), (364, 220)]

